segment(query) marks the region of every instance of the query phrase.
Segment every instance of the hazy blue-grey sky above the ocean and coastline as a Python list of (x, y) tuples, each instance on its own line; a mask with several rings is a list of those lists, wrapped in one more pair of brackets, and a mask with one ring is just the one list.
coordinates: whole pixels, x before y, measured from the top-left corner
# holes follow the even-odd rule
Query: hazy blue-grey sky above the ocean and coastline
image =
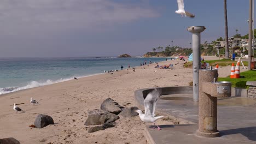
[[(161, 46), (191, 47), (225, 37), (223, 0), (1, 0), (0, 57), (142, 56)], [(227, 0), (229, 37), (248, 33), (249, 1)], [(173, 42), (172, 42), (173, 41)]]

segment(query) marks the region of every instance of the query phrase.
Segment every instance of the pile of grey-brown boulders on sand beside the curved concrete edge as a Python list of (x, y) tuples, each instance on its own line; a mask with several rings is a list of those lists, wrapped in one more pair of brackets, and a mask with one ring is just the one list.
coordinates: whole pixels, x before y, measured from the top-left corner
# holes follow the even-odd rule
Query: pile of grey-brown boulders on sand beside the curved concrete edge
[(101, 104), (101, 110), (96, 109), (88, 113), (88, 118), (84, 124), (96, 125), (89, 128), (89, 133), (115, 127), (115, 120), (119, 119), (119, 116), (125, 118), (137, 116), (138, 113), (135, 112), (137, 109), (137, 107), (123, 107), (113, 99), (107, 98)]

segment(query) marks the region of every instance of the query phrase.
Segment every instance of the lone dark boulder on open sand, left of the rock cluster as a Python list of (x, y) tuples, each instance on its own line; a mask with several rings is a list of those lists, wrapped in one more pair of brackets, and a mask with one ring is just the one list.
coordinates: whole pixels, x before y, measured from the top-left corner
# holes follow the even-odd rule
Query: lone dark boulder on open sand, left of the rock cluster
[(53, 118), (48, 115), (39, 114), (34, 121), (34, 126), (37, 128), (46, 127), (49, 124), (54, 124)]

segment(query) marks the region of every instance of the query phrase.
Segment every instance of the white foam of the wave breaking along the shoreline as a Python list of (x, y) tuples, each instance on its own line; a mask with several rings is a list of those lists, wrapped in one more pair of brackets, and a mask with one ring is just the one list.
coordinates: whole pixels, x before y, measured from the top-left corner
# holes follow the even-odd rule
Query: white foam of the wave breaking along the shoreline
[[(93, 74), (93, 75), (99, 75), (99, 74)], [(88, 77), (88, 76), (93, 76), (93, 75), (75, 76), (75, 77), (82, 78), (82, 77)], [(63, 81), (68, 81), (68, 80), (73, 80), (73, 79), (74, 79), (73, 77), (70, 77), (70, 78), (66, 78), (66, 79), (59, 79), (59, 80), (56, 80), (56, 81), (53, 81), (53, 80), (46, 80), (44, 82), (31, 81), (26, 86), (22, 86), (22, 87), (5, 87), (5, 88), (0, 88), (0, 95), (1, 94), (5, 94), (5, 93), (11, 93), (11, 92), (20, 91), (22, 89), (28, 89), (28, 88), (45, 86), (45, 85), (51, 85), (53, 83), (58, 83), (58, 82), (63, 82)]]

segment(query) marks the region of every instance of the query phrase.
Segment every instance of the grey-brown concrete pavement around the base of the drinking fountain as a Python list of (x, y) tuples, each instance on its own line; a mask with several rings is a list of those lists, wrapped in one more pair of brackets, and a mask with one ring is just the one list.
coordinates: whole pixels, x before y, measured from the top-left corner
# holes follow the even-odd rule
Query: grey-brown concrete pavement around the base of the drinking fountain
[[(198, 105), (192, 97), (192, 94), (161, 96), (156, 112), (190, 124), (160, 125), (160, 131), (147, 125), (145, 130), (149, 143), (256, 143), (256, 99), (218, 99), (217, 129), (220, 137), (205, 138), (195, 135), (198, 128)], [(138, 107), (144, 107), (143, 99), (136, 100)]]

